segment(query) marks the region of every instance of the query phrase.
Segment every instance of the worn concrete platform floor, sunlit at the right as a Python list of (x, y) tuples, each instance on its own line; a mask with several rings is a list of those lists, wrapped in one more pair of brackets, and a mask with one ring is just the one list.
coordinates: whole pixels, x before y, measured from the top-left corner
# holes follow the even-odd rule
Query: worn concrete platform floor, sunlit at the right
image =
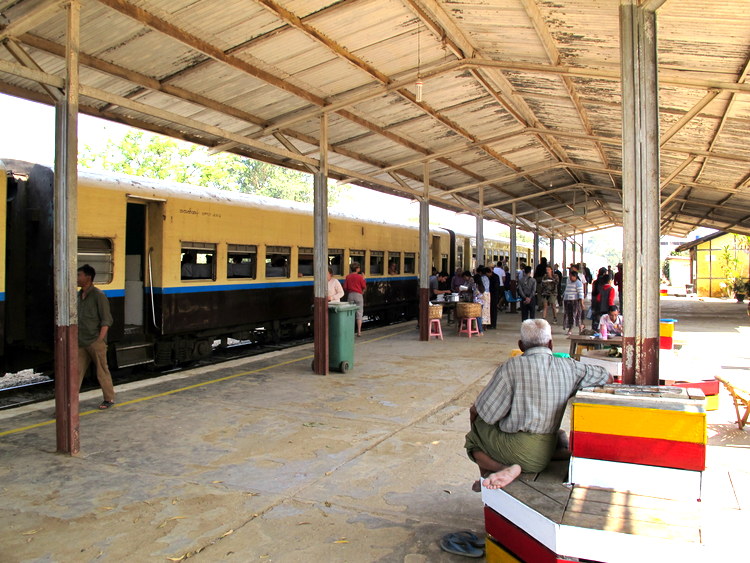
[[(665, 369), (750, 378), (744, 306), (667, 298), (662, 316), (685, 342)], [(119, 386), (109, 411), (90, 392), (73, 458), (54, 453), (51, 403), (0, 413), (0, 561), (460, 561), (437, 541), (483, 530), (467, 409), (519, 323), (366, 332), (346, 375), (313, 375), (302, 346)], [(724, 394), (703, 502), (717, 549), (750, 514), (750, 428), (733, 421)]]

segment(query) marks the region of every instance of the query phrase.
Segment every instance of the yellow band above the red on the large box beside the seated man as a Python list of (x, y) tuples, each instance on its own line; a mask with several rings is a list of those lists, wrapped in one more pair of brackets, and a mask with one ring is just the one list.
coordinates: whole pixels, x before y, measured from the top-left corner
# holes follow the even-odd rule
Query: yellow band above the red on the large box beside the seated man
[(706, 413), (573, 403), (573, 431), (705, 444)]

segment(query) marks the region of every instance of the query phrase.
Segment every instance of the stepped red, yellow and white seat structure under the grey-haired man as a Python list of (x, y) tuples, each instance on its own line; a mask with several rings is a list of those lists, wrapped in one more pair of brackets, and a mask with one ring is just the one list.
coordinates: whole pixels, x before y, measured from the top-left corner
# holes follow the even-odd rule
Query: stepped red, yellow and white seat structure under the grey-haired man
[(487, 561), (701, 560), (700, 390), (581, 391), (572, 400), (571, 449), (567, 482), (548, 470), (482, 490)]

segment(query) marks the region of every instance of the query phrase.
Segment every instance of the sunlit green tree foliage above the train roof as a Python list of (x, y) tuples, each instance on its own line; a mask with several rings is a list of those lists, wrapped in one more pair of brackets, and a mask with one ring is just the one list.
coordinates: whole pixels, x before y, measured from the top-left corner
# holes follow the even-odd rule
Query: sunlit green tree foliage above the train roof
[[(313, 198), (310, 174), (229, 153), (211, 155), (205, 147), (137, 130), (100, 149), (84, 146), (79, 162), (85, 168), (277, 199), (309, 203)], [(329, 187), (329, 201), (335, 202), (341, 189)]]

